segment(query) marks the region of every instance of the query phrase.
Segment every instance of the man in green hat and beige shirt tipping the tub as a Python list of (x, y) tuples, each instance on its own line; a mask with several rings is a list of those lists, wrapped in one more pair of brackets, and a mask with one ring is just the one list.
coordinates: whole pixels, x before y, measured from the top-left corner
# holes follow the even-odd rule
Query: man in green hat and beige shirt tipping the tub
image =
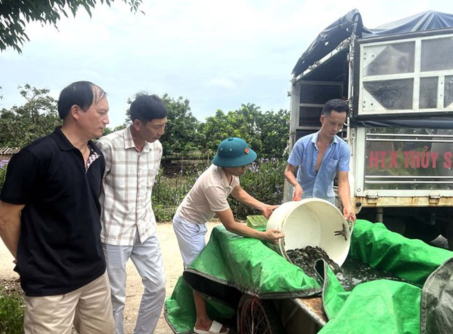
[[(270, 243), (277, 243), (284, 237), (278, 229), (257, 231), (245, 224), (236, 222), (228, 204), (231, 194), (240, 202), (252, 206), (268, 218), (277, 205), (260, 202), (240, 188), (239, 176), (245, 173), (245, 167), (256, 159), (256, 153), (240, 138), (224, 139), (217, 148), (213, 165), (199, 176), (192, 189), (184, 197), (173, 218), (173, 228), (178, 238), (179, 249), (187, 268), (205, 247), (205, 223), (215, 215), (224, 227), (233, 233), (258, 238)], [(194, 290), (194, 302), (197, 321), (194, 333), (214, 334), (229, 333), (229, 328), (213, 321), (206, 313), (206, 301)]]

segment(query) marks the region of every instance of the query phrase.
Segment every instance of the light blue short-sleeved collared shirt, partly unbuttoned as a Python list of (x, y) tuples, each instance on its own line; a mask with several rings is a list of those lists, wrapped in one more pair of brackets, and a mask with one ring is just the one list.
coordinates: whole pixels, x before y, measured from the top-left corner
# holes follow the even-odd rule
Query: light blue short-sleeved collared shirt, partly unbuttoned
[(302, 187), (302, 198), (316, 197), (335, 202), (333, 179), (337, 171), (348, 172), (351, 151), (348, 144), (337, 135), (325, 150), (323, 161), (316, 173), (318, 158), (318, 132), (304, 136), (295, 142), (289, 155), (289, 165), (297, 166), (298, 183)]

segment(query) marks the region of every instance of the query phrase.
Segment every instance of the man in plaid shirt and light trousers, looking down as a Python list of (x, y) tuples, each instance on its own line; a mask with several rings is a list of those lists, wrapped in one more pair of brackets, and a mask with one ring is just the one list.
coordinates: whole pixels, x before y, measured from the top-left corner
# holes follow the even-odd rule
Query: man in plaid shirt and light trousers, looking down
[(167, 108), (155, 95), (139, 94), (130, 105), (132, 124), (102, 137), (105, 155), (102, 204), (102, 248), (112, 288), (116, 333), (123, 333), (126, 262), (141, 276), (141, 297), (134, 333), (153, 333), (165, 299), (162, 252), (156, 235), (151, 191), (159, 172)]

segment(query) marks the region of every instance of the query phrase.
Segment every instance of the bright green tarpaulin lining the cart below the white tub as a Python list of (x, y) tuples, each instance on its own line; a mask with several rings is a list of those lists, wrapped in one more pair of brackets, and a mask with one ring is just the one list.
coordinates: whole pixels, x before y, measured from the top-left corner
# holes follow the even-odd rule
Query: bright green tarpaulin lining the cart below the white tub
[[(450, 309), (441, 312), (445, 310), (443, 305), (436, 303), (438, 296), (443, 296), (443, 303), (447, 300), (453, 304), (453, 288), (449, 283), (453, 266), (446, 265), (453, 252), (409, 240), (388, 231), (383, 224), (358, 220), (348, 257), (391, 272), (404, 282), (374, 280), (345, 291), (323, 261), (321, 266), (316, 265), (320, 275), (314, 279), (261, 241), (216, 227), (206, 248), (183, 273), (183, 279), (167, 299), (167, 321), (175, 333), (192, 333), (195, 321), (192, 287), (207, 296), (210, 316), (225, 323), (235, 317), (238, 300), (244, 293), (262, 299), (322, 294), (329, 321), (319, 333), (416, 334), (421, 331), (422, 314), (425, 314), (423, 333), (453, 333), (453, 313)], [(425, 284), (428, 282), (429, 286)], [(421, 300), (425, 303), (421, 304)], [(427, 312), (427, 308), (437, 311)], [(441, 329), (427, 331), (426, 324)]]

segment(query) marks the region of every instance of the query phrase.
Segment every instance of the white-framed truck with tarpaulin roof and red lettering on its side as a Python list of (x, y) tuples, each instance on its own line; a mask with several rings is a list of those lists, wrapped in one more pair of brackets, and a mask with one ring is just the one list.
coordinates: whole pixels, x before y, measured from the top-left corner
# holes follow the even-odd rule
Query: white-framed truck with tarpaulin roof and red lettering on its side
[[(325, 28), (291, 74), (289, 149), (348, 101), (358, 218), (453, 248), (453, 15), (427, 11), (367, 29), (357, 9)], [(334, 183), (335, 184), (335, 183)], [(284, 202), (292, 186), (285, 184)], [(341, 206), (337, 201), (337, 206)]]

